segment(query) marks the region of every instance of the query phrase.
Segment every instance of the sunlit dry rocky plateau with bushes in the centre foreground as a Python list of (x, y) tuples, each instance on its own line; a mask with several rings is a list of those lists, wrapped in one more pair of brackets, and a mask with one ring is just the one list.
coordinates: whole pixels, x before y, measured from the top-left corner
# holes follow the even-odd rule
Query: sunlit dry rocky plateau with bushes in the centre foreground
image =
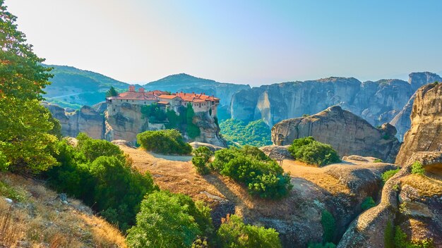
[(251, 197), (245, 187), (218, 173), (198, 175), (189, 157), (159, 156), (120, 145), (139, 171), (149, 171), (162, 190), (188, 194), (208, 202), (215, 225), (227, 213), (236, 213), (253, 225), (275, 228), (284, 247), (304, 247), (322, 240), (321, 213), (330, 211), (336, 221), (333, 240), (338, 242), (347, 225), (361, 213), (366, 197), (381, 190), (381, 173), (395, 168), (388, 163), (348, 161), (323, 168), (285, 160), (294, 188), (279, 201)]

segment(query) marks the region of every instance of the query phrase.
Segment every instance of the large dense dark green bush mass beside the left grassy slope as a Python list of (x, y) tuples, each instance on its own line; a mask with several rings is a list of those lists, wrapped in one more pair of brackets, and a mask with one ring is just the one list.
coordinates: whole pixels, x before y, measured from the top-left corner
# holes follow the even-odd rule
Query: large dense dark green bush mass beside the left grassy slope
[(107, 221), (126, 230), (135, 223), (145, 194), (158, 190), (157, 186), (148, 173), (141, 175), (131, 167), (119, 147), (85, 135), (78, 138), (77, 147), (66, 140), (59, 142), (56, 159), (60, 166), (44, 177), (54, 190), (81, 199)]

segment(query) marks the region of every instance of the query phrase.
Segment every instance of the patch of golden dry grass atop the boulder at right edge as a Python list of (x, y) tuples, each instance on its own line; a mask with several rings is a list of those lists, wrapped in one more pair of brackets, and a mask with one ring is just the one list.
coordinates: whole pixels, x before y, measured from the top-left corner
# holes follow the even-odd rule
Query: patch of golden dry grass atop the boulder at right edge
[(442, 196), (442, 182), (424, 175), (407, 175), (401, 178), (402, 185), (410, 185), (424, 197)]

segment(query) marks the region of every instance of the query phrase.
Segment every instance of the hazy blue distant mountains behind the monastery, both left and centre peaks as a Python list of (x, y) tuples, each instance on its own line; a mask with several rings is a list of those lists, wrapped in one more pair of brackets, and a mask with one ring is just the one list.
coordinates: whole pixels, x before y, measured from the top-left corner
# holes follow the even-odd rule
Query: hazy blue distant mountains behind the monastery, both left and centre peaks
[[(105, 92), (111, 87), (124, 92), (129, 87), (126, 82), (114, 80), (111, 77), (88, 70), (80, 70), (71, 66), (55, 66), (52, 82), (45, 91), (47, 101), (62, 107), (79, 109), (83, 105), (92, 106), (104, 101)], [(141, 85), (136, 85), (141, 87)], [(236, 85), (232, 83), (216, 82), (184, 73), (169, 75), (154, 82), (143, 85), (146, 90), (160, 89), (169, 92), (204, 92), (213, 94), (221, 99), (223, 106), (230, 104), (232, 95), (241, 89), (250, 89), (249, 85)]]

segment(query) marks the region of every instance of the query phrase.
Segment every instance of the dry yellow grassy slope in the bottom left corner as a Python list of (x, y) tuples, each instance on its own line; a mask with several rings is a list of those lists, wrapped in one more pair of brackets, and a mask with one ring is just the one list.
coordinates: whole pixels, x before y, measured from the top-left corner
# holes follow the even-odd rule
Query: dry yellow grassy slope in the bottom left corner
[(126, 247), (119, 230), (80, 201), (62, 204), (52, 190), (17, 175), (0, 173), (0, 181), (25, 194), (13, 204), (0, 195), (0, 247)]

